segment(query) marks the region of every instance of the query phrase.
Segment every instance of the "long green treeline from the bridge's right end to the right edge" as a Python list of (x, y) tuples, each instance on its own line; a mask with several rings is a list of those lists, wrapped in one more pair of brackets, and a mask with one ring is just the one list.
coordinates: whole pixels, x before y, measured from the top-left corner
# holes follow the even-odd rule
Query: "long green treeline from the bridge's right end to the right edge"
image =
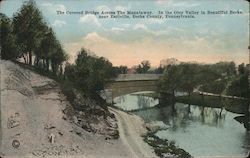
[(175, 96), (175, 92), (210, 92), (248, 98), (248, 69), (234, 62), (216, 64), (181, 63), (168, 65), (158, 86), (161, 94)]

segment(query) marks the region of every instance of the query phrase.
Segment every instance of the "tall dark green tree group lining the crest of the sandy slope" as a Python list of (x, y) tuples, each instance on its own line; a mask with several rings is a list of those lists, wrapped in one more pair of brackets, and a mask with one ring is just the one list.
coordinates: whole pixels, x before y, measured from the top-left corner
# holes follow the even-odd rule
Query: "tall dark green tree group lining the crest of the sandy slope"
[[(11, 21), (1, 14), (1, 32), (5, 40), (2, 43), (4, 59), (22, 56), (25, 63), (34, 65), (41, 70), (62, 75), (62, 64), (68, 59), (52, 28), (47, 26), (42, 13), (34, 0), (24, 2), (20, 10), (13, 16), (13, 31)], [(2, 25), (3, 24), (3, 25)], [(13, 32), (14, 35), (11, 33)], [(18, 51), (17, 51), (18, 48)], [(60, 68), (60, 73), (59, 72)]]

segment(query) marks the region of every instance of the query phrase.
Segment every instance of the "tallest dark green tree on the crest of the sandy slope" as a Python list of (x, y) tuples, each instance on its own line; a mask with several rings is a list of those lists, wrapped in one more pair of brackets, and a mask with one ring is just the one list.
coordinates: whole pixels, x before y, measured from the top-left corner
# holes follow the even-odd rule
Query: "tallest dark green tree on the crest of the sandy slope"
[(29, 65), (32, 65), (32, 52), (39, 46), (46, 27), (42, 14), (33, 0), (25, 2), (14, 15), (13, 25), (17, 44), (24, 54), (28, 53)]

